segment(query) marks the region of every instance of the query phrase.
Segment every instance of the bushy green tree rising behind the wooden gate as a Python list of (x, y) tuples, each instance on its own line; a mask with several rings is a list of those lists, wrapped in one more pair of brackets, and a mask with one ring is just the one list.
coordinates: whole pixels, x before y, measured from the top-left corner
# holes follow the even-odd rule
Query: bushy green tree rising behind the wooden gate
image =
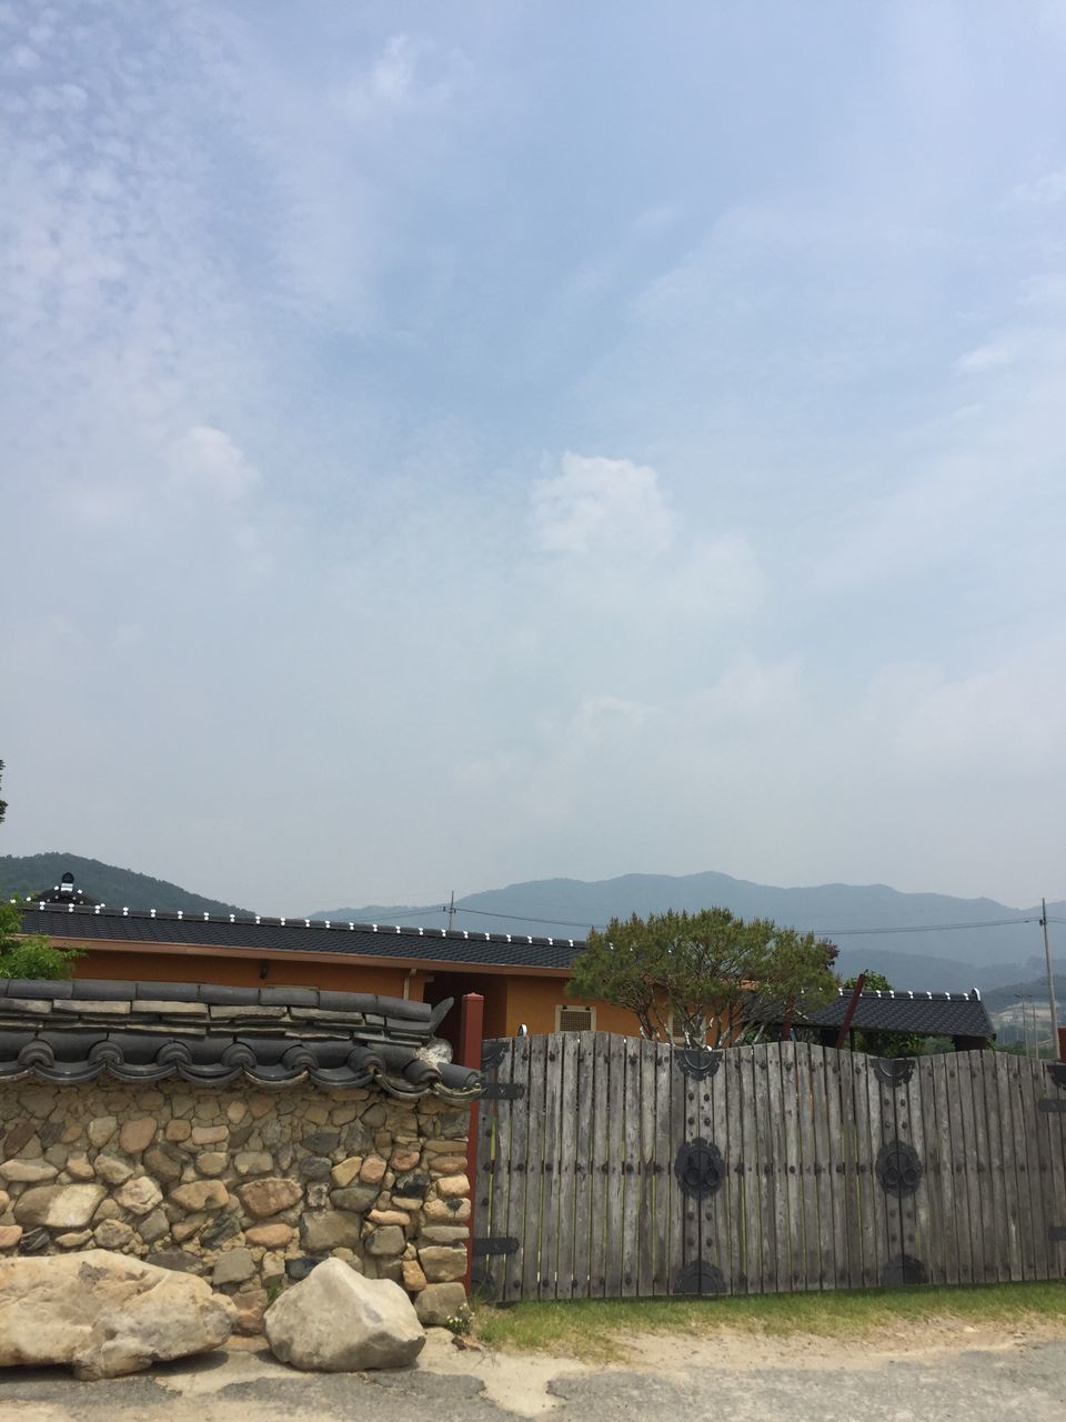
[(824, 1001), (836, 991), (834, 957), (833, 944), (813, 933), (769, 919), (745, 923), (728, 909), (634, 913), (590, 931), (567, 993), (628, 1008), (650, 1041), (684, 1035), (702, 1047), (726, 1025), (739, 1028), (753, 997)]

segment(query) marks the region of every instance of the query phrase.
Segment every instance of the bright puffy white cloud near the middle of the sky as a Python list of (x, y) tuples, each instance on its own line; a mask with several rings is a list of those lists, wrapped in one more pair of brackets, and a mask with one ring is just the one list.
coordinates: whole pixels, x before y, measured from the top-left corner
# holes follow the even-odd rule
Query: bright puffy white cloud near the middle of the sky
[(564, 454), (560, 472), (533, 489), (534, 539), (546, 552), (661, 553), (677, 526), (655, 469), (631, 459)]

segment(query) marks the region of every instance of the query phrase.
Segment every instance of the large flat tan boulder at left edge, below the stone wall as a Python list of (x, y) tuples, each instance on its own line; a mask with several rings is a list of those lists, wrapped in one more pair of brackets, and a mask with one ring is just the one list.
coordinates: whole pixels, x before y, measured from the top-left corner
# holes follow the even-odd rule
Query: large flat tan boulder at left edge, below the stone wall
[(0, 1260), (0, 1367), (68, 1364), (84, 1381), (220, 1347), (236, 1310), (202, 1278), (84, 1254)]

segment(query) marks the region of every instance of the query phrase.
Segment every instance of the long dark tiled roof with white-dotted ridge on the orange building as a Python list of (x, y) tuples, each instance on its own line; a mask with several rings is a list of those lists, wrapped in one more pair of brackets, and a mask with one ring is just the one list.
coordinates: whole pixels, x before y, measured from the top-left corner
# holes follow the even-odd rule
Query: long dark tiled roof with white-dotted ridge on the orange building
[(337, 953), (426, 963), (569, 968), (583, 947), (574, 939), (517, 933), (466, 933), (462, 929), (409, 929), (392, 923), (328, 919), (250, 919), (237, 914), (162, 913), (155, 909), (81, 907), (31, 903), (23, 907), (27, 933), (61, 941), (195, 944), (270, 953)]

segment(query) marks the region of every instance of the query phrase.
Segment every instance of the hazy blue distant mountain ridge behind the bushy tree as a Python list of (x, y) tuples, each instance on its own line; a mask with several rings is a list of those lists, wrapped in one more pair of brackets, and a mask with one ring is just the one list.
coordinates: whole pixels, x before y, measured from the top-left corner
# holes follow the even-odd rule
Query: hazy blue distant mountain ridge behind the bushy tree
[[(455, 924), (469, 931), (530, 933), (580, 939), (593, 926), (630, 913), (721, 906), (743, 919), (766, 917), (824, 933), (840, 948), (839, 968), (850, 977), (863, 968), (884, 973), (912, 991), (967, 991), (1033, 975), (1042, 957), (1040, 929), (1026, 919), (1038, 909), (1013, 909), (995, 899), (901, 893), (887, 884), (817, 884), (780, 889), (714, 872), (698, 875), (623, 875), (617, 879), (537, 879), (456, 899)], [(1066, 903), (1048, 906), (1066, 917)], [(441, 904), (365, 904), (331, 909), (316, 919), (414, 923), (443, 927)], [(994, 923), (998, 927), (952, 929), (948, 924)], [(881, 930), (847, 933), (843, 930)], [(884, 931), (893, 930), (893, 931)], [(1066, 960), (1066, 927), (1059, 930)]]

